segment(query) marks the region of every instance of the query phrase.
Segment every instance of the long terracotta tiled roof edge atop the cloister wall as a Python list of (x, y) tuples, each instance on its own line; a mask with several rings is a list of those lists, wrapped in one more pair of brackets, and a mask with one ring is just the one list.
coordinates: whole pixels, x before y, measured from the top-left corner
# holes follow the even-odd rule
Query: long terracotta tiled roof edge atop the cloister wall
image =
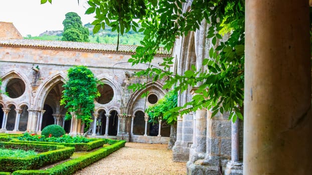
[[(117, 44), (101, 44), (90, 42), (72, 42), (60, 40), (35, 40), (35, 39), (0, 39), (0, 45), (3, 46), (25, 46), (25, 47), (38, 47), (38, 48), (54, 48), (54, 49), (71, 49), (81, 51), (95, 51), (95, 52), (126, 52), (133, 54), (136, 45), (122, 45), (119, 44), (118, 51), (116, 51)], [(163, 47), (157, 52), (158, 54), (170, 54), (164, 50)]]

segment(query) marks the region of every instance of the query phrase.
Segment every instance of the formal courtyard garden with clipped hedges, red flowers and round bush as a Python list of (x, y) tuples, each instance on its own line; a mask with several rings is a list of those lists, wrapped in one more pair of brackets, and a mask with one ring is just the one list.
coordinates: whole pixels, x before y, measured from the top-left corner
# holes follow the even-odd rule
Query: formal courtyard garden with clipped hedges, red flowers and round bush
[(125, 140), (71, 136), (55, 125), (42, 134), (0, 133), (0, 174), (73, 174), (125, 145)]

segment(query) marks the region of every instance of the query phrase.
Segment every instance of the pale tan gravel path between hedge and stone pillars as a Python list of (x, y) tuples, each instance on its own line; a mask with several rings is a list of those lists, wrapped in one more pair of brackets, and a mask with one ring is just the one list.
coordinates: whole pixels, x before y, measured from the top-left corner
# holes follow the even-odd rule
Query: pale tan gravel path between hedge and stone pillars
[(75, 174), (186, 174), (185, 162), (173, 162), (167, 144), (127, 142), (125, 147)]

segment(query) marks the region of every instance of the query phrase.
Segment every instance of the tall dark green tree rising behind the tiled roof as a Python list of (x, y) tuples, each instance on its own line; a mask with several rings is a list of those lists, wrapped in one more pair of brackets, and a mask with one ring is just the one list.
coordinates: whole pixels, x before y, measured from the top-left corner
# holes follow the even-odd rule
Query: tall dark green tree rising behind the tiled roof
[(65, 14), (63, 20), (64, 33), (62, 40), (68, 41), (89, 41), (89, 30), (82, 26), (80, 16), (75, 12), (68, 12)]

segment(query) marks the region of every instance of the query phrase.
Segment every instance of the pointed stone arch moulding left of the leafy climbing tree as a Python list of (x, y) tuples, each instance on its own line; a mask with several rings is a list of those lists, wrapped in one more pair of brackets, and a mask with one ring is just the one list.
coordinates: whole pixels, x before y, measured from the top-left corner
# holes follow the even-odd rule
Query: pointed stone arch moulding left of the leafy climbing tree
[(65, 83), (67, 80), (64, 72), (57, 72), (51, 75), (50, 78), (45, 80), (38, 88), (36, 96), (34, 98), (34, 109), (43, 109), (44, 102), (50, 90), (59, 82)]

